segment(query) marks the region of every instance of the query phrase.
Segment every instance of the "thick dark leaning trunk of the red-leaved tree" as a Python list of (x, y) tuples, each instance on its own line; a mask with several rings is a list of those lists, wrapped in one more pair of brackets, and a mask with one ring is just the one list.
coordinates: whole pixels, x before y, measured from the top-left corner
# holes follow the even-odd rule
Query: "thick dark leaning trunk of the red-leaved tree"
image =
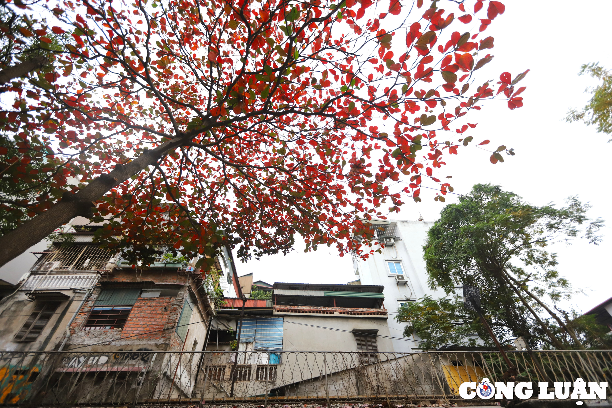
[(0, 266), (23, 254), (29, 247), (39, 243), (74, 217), (81, 215), (90, 218), (91, 208), (95, 206), (96, 200), (131, 176), (137, 175), (144, 168), (155, 164), (160, 157), (181, 146), (184, 142), (184, 138), (169, 140), (155, 149), (143, 152), (138, 158), (127, 164), (116, 165), (112, 172), (100, 175), (76, 194), (65, 192), (61, 201), (49, 210), (0, 237)]

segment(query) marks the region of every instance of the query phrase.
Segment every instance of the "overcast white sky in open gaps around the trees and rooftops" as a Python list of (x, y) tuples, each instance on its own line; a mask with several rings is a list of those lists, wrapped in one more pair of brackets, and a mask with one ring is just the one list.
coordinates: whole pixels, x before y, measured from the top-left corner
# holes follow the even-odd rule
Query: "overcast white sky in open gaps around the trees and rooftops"
[[(584, 93), (594, 84), (591, 78), (578, 77), (583, 63), (601, 62), (612, 68), (610, 56), (609, 1), (527, 1), (504, 2), (506, 13), (499, 16), (486, 34), (495, 38), (490, 64), (479, 78), (498, 81), (509, 71), (512, 77), (531, 69), (521, 85), (524, 107), (510, 111), (506, 102), (487, 103), (480, 113), (470, 116), (477, 122), (469, 135), (474, 140), (489, 139), (489, 146), (506, 145), (517, 156), (492, 165), (490, 153), (463, 149), (459, 156), (446, 159), (444, 175), (452, 175), (455, 192), (466, 194), (476, 183), (499, 184), (521, 195), (527, 202), (543, 205), (563, 204), (569, 195), (579, 195), (594, 205), (592, 217), (603, 217), (606, 235), (599, 246), (577, 241), (558, 245), (559, 271), (584, 295), (573, 306), (586, 311), (612, 297), (612, 273), (608, 257), (612, 254), (612, 211), (610, 207), (610, 170), (612, 143), (593, 127), (565, 123), (569, 107), (582, 107)], [(466, 27), (471, 32), (477, 28)], [(487, 78), (488, 75), (488, 78)], [(469, 150), (469, 151), (468, 151)], [(395, 219), (426, 221), (438, 218), (444, 206), (433, 201), (435, 192), (422, 192), (421, 203), (407, 203)], [(447, 195), (447, 202), (453, 202)], [(253, 272), (255, 280), (266, 282), (346, 283), (354, 280), (350, 257), (338, 257), (334, 250), (319, 248), (303, 252), (304, 246), (288, 256), (274, 255), (239, 264), (239, 274)]]

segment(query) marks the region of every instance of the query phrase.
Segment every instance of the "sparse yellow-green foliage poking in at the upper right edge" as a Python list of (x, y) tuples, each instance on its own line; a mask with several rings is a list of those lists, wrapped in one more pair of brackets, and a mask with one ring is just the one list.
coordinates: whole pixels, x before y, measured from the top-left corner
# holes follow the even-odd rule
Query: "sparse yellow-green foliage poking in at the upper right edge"
[[(597, 132), (612, 134), (612, 74), (599, 66), (599, 62), (584, 64), (579, 75), (591, 75), (601, 83), (593, 88), (587, 88), (586, 92), (592, 97), (582, 110), (573, 109), (565, 118), (568, 122), (584, 121), (588, 125), (596, 125)], [(608, 140), (611, 142), (612, 138)]]

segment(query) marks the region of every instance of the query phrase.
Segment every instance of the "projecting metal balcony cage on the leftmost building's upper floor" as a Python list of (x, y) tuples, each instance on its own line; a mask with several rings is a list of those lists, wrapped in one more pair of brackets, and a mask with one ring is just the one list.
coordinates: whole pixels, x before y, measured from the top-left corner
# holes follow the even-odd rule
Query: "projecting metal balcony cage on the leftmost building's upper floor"
[[(52, 268), (56, 271), (91, 271), (103, 269), (113, 256), (108, 249), (97, 244), (76, 244), (67, 248), (54, 246), (53, 250), (40, 257), (35, 270)], [(51, 264), (50, 262), (53, 262)]]

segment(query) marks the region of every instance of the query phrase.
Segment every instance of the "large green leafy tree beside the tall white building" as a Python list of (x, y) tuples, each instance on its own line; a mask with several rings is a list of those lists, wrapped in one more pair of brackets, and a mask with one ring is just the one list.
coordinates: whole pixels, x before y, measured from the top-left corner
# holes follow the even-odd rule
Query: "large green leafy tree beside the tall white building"
[(400, 308), (408, 322), (405, 336), (424, 339), (423, 347), (490, 342), (476, 314), (463, 308), (462, 284), (480, 288), (482, 308), (501, 342), (526, 336), (532, 347), (583, 348), (572, 321), (554, 304), (574, 292), (559, 276), (548, 244), (572, 238), (599, 243), (602, 219), (589, 219), (591, 206), (570, 197), (567, 206), (533, 206), (499, 186), (476, 184), (469, 196), (447, 205), (428, 232), (424, 258), (431, 289), (442, 300), (422, 298)]

